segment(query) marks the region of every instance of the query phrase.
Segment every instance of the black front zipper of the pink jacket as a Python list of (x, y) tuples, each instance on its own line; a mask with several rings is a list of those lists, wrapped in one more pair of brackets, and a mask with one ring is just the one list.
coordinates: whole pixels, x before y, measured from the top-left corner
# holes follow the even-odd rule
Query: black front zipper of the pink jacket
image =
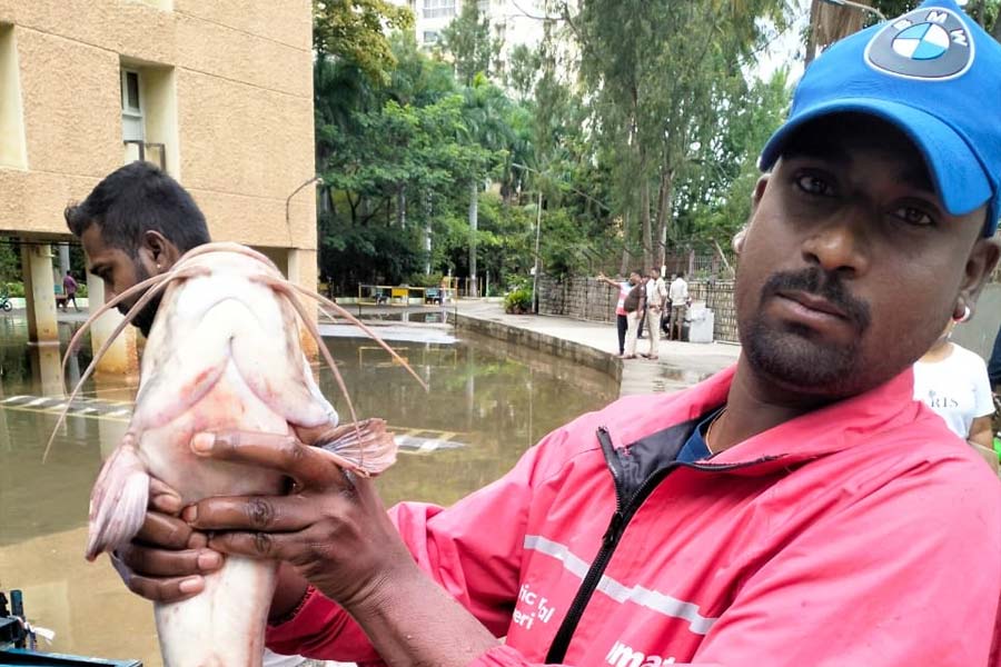
[(574, 631), (577, 629), (577, 624), (581, 623), (581, 617), (584, 615), (584, 609), (587, 607), (598, 583), (602, 580), (602, 575), (605, 574), (605, 568), (608, 567), (608, 561), (612, 560), (612, 555), (615, 552), (615, 548), (618, 546), (626, 526), (630, 520), (632, 520), (633, 515), (636, 514), (636, 510), (640, 509), (640, 506), (643, 505), (643, 501), (646, 500), (646, 497), (650, 496), (654, 488), (656, 488), (670, 472), (682, 466), (695, 468), (697, 470), (725, 471), (753, 466), (765, 460), (759, 459), (755, 461), (722, 466), (703, 466), (698, 464), (678, 464), (672, 461), (654, 471), (650, 477), (643, 480), (643, 484), (640, 485), (633, 495), (628, 498), (624, 498), (625, 491), (623, 489), (622, 475), (614, 462), (615, 448), (612, 445), (612, 436), (608, 434), (608, 429), (604, 426), (599, 427), (597, 430), (597, 438), (598, 442), (602, 445), (605, 464), (608, 466), (608, 470), (612, 472), (612, 480), (615, 484), (615, 512), (612, 515), (608, 528), (605, 530), (604, 536), (602, 536), (602, 548), (598, 550), (597, 556), (587, 569), (587, 574), (584, 576), (584, 580), (581, 583), (581, 587), (577, 589), (573, 603), (571, 603), (566, 617), (563, 619), (563, 623), (559, 624), (559, 629), (556, 630), (556, 635), (553, 637), (553, 644), (549, 645), (549, 651), (546, 654), (547, 665), (558, 665), (563, 663), (564, 657), (566, 657), (566, 649), (569, 647)]

